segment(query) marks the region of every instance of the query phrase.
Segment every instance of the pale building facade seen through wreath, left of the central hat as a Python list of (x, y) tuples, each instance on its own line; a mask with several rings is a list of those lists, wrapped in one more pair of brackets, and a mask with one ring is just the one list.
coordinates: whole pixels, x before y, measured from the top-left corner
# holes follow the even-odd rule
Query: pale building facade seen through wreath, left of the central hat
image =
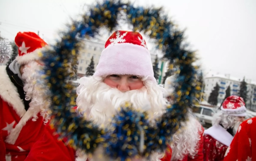
[(94, 61), (94, 70), (101, 56), (102, 50), (105, 49), (105, 42), (99, 40), (83, 40), (83, 48), (79, 51), (78, 78), (85, 76), (86, 68), (90, 64), (91, 58)]

